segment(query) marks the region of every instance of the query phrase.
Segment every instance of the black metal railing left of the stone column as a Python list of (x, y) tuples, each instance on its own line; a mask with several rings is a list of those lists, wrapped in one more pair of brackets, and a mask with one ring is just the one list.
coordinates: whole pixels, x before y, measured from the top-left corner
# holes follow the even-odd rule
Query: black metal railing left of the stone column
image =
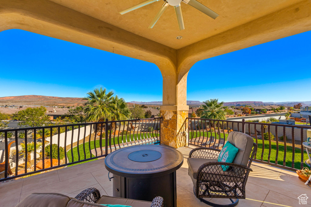
[[(160, 144), (161, 117), (0, 130), (0, 181), (104, 157), (122, 147)], [(1, 138), (2, 137), (2, 138)], [(0, 145), (1, 146), (1, 145)]]

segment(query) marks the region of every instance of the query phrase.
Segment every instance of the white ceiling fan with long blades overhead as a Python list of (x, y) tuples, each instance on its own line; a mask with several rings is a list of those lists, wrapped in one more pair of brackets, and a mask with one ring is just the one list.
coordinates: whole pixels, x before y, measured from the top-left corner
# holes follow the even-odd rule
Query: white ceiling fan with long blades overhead
[[(157, 1), (160, 1), (160, 0), (147, 0), (145, 2), (137, 4), (136, 6), (133, 6), (133, 7), (130, 7), (126, 10), (120, 11), (119, 13), (123, 15), (123, 14), (130, 12), (130, 11), (133, 11), (133, 10), (138, 9), (140, 7), (144, 7), (148, 4), (151, 4), (151, 3), (157, 2)], [(153, 26), (159, 20), (160, 16), (163, 14), (165, 9), (169, 5), (171, 5), (171, 6), (174, 6), (174, 8), (175, 8), (179, 29), (180, 30), (185, 29), (185, 25), (183, 24), (183, 14), (181, 12), (181, 4), (180, 4), (181, 2), (184, 2), (188, 5), (196, 8), (197, 10), (202, 11), (204, 14), (206, 14), (207, 16), (210, 16), (213, 19), (216, 19), (216, 17), (219, 16), (216, 12), (212, 11), (211, 9), (207, 8), (206, 6), (204, 6), (203, 4), (201, 4), (200, 2), (198, 2), (196, 0), (163, 0), (163, 1), (164, 1), (164, 4), (162, 5), (160, 11), (156, 14), (155, 18), (152, 20), (152, 22), (148, 28), (153, 28)]]

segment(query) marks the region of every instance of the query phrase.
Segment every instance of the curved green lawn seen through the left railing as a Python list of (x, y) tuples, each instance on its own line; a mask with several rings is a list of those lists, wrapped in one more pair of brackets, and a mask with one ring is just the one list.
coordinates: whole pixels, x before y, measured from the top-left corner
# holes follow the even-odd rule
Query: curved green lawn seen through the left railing
[[(153, 134), (154, 137), (156, 137), (156, 133)], [(119, 143), (120, 143), (120, 146), (123, 146), (121, 143), (122, 143), (122, 139), (123, 139), (123, 142), (131, 142), (131, 141), (134, 141), (134, 139), (137, 140), (137, 137), (138, 137), (138, 140), (141, 140), (143, 138), (147, 138), (147, 134), (145, 133), (144, 135), (143, 134), (139, 134), (138, 135), (135, 133), (134, 135), (131, 134), (131, 135), (123, 135), (123, 136), (119, 136)], [(148, 137), (150, 137), (149, 133), (148, 133)], [(159, 134), (158, 134), (158, 137), (159, 137)], [(149, 140), (153, 140), (153, 138), (149, 138)], [(88, 139), (86, 138), (86, 141)], [(138, 141), (137, 141), (138, 142)], [(83, 143), (79, 145), (79, 154), (80, 154), (80, 160), (84, 160), (84, 159), (88, 159), (88, 158), (91, 158), (91, 153), (90, 153), (90, 149), (89, 149), (89, 144), (91, 143), (91, 150), (94, 149), (94, 140), (91, 141), (91, 142), (86, 142), (84, 144), (84, 148), (85, 148), (85, 156), (84, 156), (84, 150), (83, 150)], [(114, 149), (114, 143), (116, 146), (118, 146), (118, 137), (111, 137), (111, 148)], [(100, 140), (96, 140), (95, 141), (95, 147), (98, 148), (100, 147)], [(102, 139), (102, 148), (105, 149), (105, 139)], [(109, 149), (109, 148), (108, 148)], [(72, 151), (72, 154), (73, 154), (73, 161), (72, 161), (72, 155), (71, 155), (71, 151)], [(97, 155), (100, 155), (100, 151), (97, 151)], [(95, 157), (95, 155), (92, 155), (92, 157)], [(78, 148), (77, 147), (74, 147), (72, 150), (69, 150), (67, 152), (67, 158), (69, 160), (69, 162), (75, 162), (75, 161), (78, 161)], [(95, 160), (95, 159), (94, 159)], [(96, 159), (97, 160), (97, 159)], [(88, 160), (88, 161), (85, 161), (85, 162), (90, 162), (92, 160)], [(85, 163), (85, 162), (81, 162), (81, 163)], [(81, 163), (77, 163), (77, 164), (81, 164)], [(76, 165), (76, 164), (72, 164), (72, 165)], [(71, 165), (70, 165), (71, 166)]]

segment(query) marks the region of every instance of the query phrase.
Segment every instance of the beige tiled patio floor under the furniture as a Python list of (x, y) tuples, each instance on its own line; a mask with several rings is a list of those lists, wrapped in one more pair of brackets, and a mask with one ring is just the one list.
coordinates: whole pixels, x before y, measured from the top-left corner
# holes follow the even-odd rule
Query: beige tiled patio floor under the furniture
[[(193, 184), (188, 176), (187, 157), (194, 146), (181, 147), (184, 155), (182, 167), (177, 170), (177, 206), (207, 206), (193, 194)], [(253, 172), (246, 184), (246, 198), (240, 199), (238, 206), (299, 206), (298, 196), (307, 194), (311, 189), (304, 185), (292, 171), (253, 162)], [(78, 164), (63, 169), (42, 173), (0, 184), (0, 206), (17, 205), (32, 192), (58, 192), (75, 197), (88, 187), (95, 187), (101, 195), (112, 196), (112, 182), (108, 180), (108, 171), (104, 159)], [(207, 199), (225, 204), (229, 199)]]

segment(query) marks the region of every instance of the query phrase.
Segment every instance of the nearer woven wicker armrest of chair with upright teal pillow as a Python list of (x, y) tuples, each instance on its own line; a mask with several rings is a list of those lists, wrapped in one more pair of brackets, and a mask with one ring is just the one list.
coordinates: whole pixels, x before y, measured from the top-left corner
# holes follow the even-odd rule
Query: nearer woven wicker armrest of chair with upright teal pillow
[[(230, 166), (227, 171), (223, 171), (219, 165)], [(230, 180), (235, 179), (245, 179), (248, 176), (249, 172), (253, 172), (253, 170), (247, 166), (228, 163), (228, 162), (207, 162), (202, 164), (197, 170), (197, 180), (207, 179), (211, 177), (220, 176), (221, 178), (230, 177)], [(222, 181), (222, 180), (220, 180)], [(226, 181), (225, 179), (223, 180)]]

